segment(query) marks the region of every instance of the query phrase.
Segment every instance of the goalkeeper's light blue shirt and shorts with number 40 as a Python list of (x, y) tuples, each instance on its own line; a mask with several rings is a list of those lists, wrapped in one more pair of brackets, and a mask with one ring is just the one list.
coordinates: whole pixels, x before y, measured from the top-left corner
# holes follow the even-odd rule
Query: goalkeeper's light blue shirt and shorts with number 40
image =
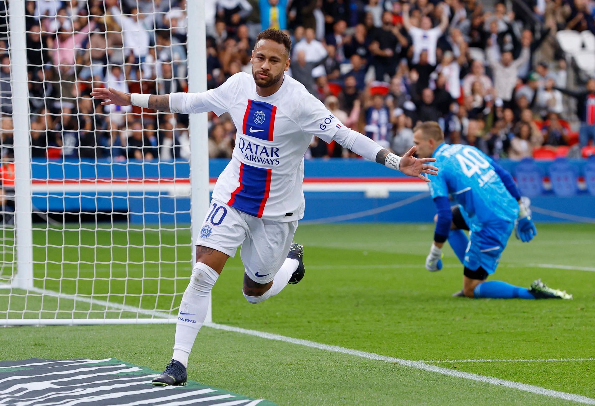
[[(469, 227), (464, 266), (471, 270), (482, 267), (488, 274), (494, 273), (518, 217), (518, 196), (513, 196), (517, 193), (509, 191), (516, 188), (508, 185), (513, 185), (512, 177), (474, 146), (443, 143), (433, 157), (440, 171), (430, 177), (430, 193), (439, 213), (440, 204), (447, 203), (450, 195), (459, 204)], [(437, 235), (446, 239), (450, 218), (447, 227), (441, 231), (437, 224)]]

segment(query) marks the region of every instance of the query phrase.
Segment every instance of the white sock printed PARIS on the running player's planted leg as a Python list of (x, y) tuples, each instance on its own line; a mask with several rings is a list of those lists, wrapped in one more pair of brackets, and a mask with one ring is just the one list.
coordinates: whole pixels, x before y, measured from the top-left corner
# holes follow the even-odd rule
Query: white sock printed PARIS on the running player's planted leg
[(180, 313), (176, 325), (173, 359), (186, 367), (188, 355), (196, 340), (198, 330), (205, 322), (209, 308), (209, 293), (217, 282), (219, 274), (203, 263), (196, 263), (192, 268), (190, 283), (182, 296)]

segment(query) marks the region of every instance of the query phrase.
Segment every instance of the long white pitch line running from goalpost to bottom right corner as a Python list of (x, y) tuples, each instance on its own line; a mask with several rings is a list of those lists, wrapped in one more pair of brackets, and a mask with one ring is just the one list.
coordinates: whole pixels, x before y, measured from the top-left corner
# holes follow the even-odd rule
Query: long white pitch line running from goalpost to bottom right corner
[(240, 327), (226, 326), (225, 324), (205, 323), (207, 327), (213, 329), (225, 330), (229, 332), (242, 333), (259, 338), (265, 338), (274, 341), (289, 342), (296, 345), (303, 345), (309, 348), (322, 349), (324, 351), (340, 352), (341, 354), (355, 355), (356, 357), (368, 358), (369, 360), (386, 361), (389, 363), (400, 364), (407, 367), (413, 367), (424, 371), (435, 372), (448, 376), (461, 377), (464, 379), (475, 380), (477, 382), (490, 383), (491, 385), (506, 386), (507, 388), (519, 389), (519, 391), (536, 393), (537, 395), (550, 396), (552, 398), (563, 399), (566, 401), (579, 402), (587, 405), (595, 405), (595, 399), (587, 396), (577, 395), (575, 393), (566, 393), (554, 391), (553, 389), (541, 388), (541, 386), (528, 385), (526, 383), (513, 382), (512, 380), (505, 380), (494, 378), (491, 376), (483, 376), (469, 372), (456, 371), (449, 368), (437, 367), (431, 364), (426, 364), (422, 361), (409, 361), (401, 358), (387, 357), (386, 355), (374, 354), (372, 352), (358, 351), (356, 349), (344, 348), (336, 345), (322, 344), (314, 341), (303, 340), (299, 338), (292, 338), (281, 336), (278, 334), (271, 334), (260, 332), (257, 330), (242, 329)]

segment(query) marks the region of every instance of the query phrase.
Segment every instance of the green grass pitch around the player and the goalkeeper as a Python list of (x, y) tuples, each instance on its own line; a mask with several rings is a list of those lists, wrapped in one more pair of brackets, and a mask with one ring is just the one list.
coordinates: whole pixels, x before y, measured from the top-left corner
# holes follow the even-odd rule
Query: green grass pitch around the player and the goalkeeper
[[(238, 255), (228, 262), (214, 288), (213, 318), (216, 323), (408, 360), (595, 358), (595, 272), (589, 271), (595, 267), (593, 225), (538, 224), (537, 229), (537, 238), (531, 243), (511, 239), (490, 279), (528, 286), (541, 277), (548, 285), (573, 293), (574, 300), (452, 298), (450, 295), (461, 289), (462, 267), (450, 248), (444, 251), (442, 271), (429, 273), (423, 266), (433, 236), (430, 224), (303, 225), (295, 238), (305, 245), (306, 276), (302, 282), (287, 286), (261, 304), (250, 305), (242, 296)], [(120, 246), (93, 248), (107, 245), (112, 238)], [(187, 230), (39, 230), (34, 235), (35, 276), (57, 278), (61, 276), (60, 261), (67, 260), (72, 263), (72, 274), (62, 276), (71, 280), (65, 279), (61, 285), (48, 280), (46, 289), (93, 291), (95, 295), (109, 291), (110, 295), (98, 298), (140, 303), (145, 308), (170, 308), (172, 303), (175, 307), (190, 273), (185, 241), (189, 241)], [(61, 248), (64, 245), (70, 246)], [(117, 263), (110, 266), (110, 258), (138, 264), (125, 270)], [(143, 264), (143, 258), (149, 263)], [(106, 264), (93, 266), (96, 262)], [(86, 275), (78, 285), (77, 274)], [(110, 275), (117, 279), (93, 282)], [(149, 279), (126, 281), (127, 276), (141, 275)], [(140, 298), (140, 289), (159, 296)], [(8, 307), (7, 297), (2, 296), (5, 293), (0, 291), (2, 317)], [(29, 300), (29, 309), (43, 308), (48, 315), (61, 310), (58, 317), (70, 317), (68, 312), (74, 306), (68, 300), (46, 298), (43, 304), (35, 298)], [(19, 305), (11, 302), (11, 309)], [(98, 317), (93, 311), (101, 309), (77, 302), (76, 310), (77, 317)], [(124, 312), (122, 316), (130, 315)], [(11, 317), (22, 317), (22, 313)], [(116, 357), (161, 370), (171, 357), (174, 329), (173, 325), (6, 328), (0, 330), (0, 359)], [(434, 364), (595, 397), (595, 361)], [(190, 355), (189, 378), (284, 405), (571, 404), (206, 327)]]

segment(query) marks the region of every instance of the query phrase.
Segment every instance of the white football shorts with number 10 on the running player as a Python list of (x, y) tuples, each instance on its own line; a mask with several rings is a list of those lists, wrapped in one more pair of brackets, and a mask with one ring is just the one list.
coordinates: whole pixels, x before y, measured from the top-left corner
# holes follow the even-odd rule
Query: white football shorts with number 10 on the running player
[(246, 274), (256, 283), (268, 283), (287, 258), (296, 229), (297, 220), (263, 220), (212, 199), (196, 245), (233, 258), (241, 244)]

